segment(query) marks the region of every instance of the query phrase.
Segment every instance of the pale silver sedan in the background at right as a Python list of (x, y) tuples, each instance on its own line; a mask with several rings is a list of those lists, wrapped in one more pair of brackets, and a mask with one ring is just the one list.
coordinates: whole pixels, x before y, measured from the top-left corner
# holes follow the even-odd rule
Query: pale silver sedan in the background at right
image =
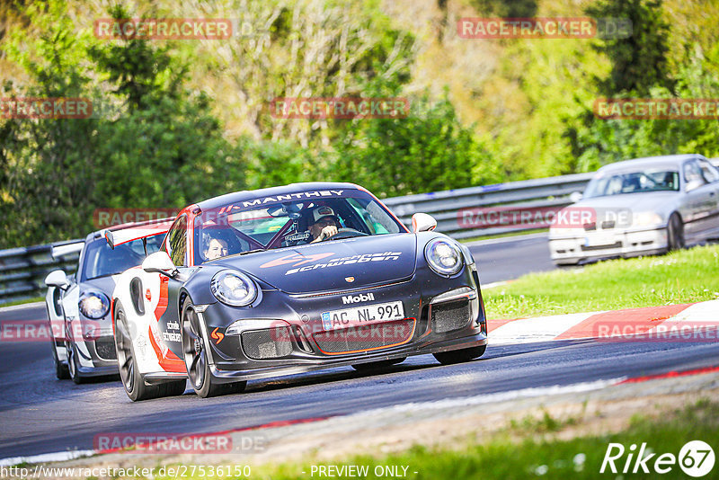
[(704, 156), (608, 164), (549, 230), (555, 263), (664, 253), (719, 238), (719, 170)]

